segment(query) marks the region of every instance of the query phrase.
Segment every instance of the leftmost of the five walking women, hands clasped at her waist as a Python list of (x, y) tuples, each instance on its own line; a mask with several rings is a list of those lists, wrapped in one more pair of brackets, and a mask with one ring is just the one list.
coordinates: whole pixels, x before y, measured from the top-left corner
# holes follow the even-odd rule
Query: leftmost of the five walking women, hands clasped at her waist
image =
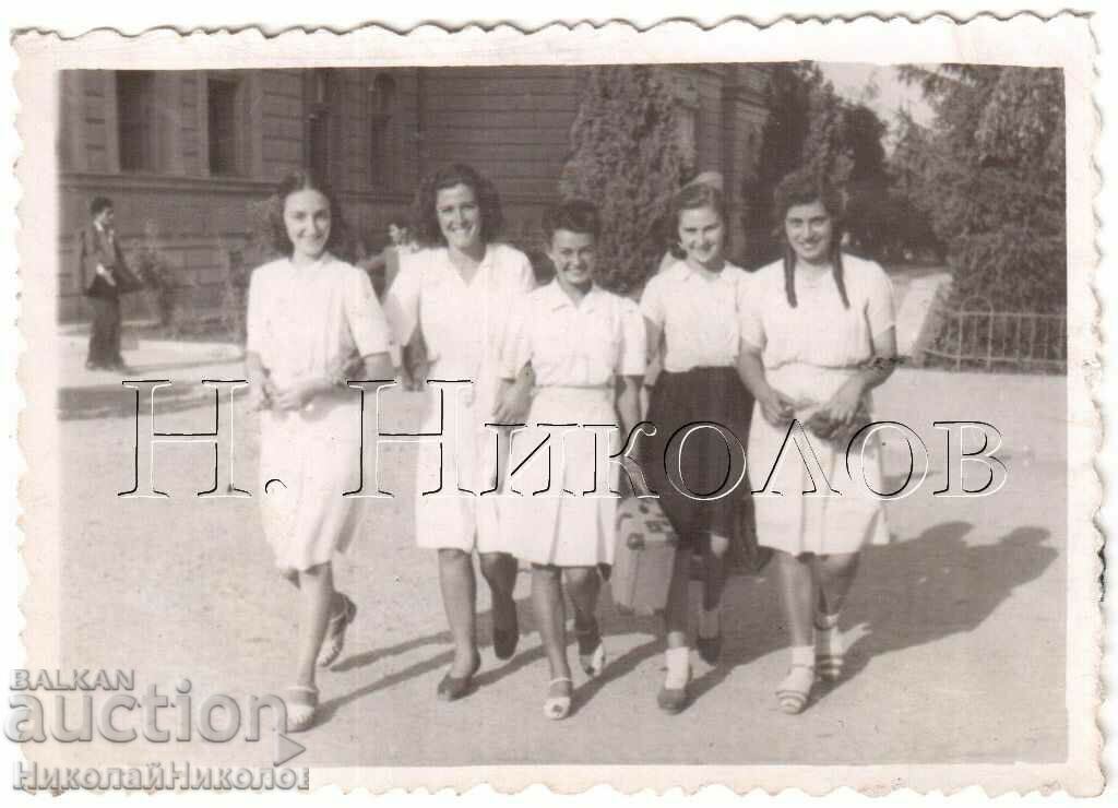
[[(360, 398), (348, 378), (391, 379), (389, 330), (369, 276), (339, 259), (345, 225), (328, 186), (310, 170), (286, 177), (272, 197), (272, 240), (283, 258), (253, 272), (245, 365), (260, 410), (257, 496), (276, 568), (300, 592), (295, 683), (287, 730), (315, 721), (315, 666), (342, 652), (357, 615), (334, 587), (333, 557), (361, 524)], [(292, 313), (297, 312), (299, 316)]]

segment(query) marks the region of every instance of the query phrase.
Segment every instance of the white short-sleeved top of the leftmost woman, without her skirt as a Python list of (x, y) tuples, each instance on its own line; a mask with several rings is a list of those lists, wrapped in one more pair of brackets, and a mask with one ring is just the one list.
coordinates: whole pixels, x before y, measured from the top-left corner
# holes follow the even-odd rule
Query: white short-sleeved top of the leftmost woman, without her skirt
[(329, 253), (295, 266), (257, 267), (248, 287), (248, 340), (278, 387), (335, 372), (353, 352), (389, 350), (390, 334), (369, 276)]

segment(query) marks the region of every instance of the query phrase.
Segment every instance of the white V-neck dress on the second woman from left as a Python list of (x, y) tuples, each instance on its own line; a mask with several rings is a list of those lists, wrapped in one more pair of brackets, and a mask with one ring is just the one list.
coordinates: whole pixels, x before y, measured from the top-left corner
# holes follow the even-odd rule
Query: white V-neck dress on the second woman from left
[[(430, 363), (428, 380), (473, 382), (461, 395), (457, 388), (443, 388), (445, 419), (438, 391), (426, 393), (420, 428), (442, 431), (445, 454), (440, 457), (432, 445), (418, 448), (416, 543), (421, 548), (511, 551), (495, 498), (479, 496), (500, 478), (494, 431), (484, 425), (496, 403), (509, 317), (534, 285), (528, 256), (502, 244), (489, 245), (468, 284), (445, 247), (400, 254), (400, 272), (385, 300), (397, 342), (408, 344), (418, 327)], [(470, 493), (424, 494), (439, 488), (440, 462), (457, 464), (458, 487)]]

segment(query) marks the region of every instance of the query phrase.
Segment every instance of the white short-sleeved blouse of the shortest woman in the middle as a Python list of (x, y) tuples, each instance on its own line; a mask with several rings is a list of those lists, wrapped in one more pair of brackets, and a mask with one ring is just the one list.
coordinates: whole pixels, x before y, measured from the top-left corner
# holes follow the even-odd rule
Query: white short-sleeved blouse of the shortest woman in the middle
[(558, 281), (528, 296), (513, 315), (501, 376), (529, 362), (540, 387), (605, 387), (614, 376), (643, 376), (645, 330), (633, 301), (598, 286), (578, 303)]

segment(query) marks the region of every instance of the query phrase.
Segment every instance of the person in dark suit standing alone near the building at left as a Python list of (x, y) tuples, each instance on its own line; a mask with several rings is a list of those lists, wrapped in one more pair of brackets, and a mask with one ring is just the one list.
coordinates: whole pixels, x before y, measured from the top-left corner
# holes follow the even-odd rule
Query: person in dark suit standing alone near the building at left
[(78, 279), (93, 306), (85, 367), (127, 371), (121, 357), (121, 295), (141, 286), (124, 262), (113, 227), (113, 200), (94, 197), (88, 227), (77, 234)]

